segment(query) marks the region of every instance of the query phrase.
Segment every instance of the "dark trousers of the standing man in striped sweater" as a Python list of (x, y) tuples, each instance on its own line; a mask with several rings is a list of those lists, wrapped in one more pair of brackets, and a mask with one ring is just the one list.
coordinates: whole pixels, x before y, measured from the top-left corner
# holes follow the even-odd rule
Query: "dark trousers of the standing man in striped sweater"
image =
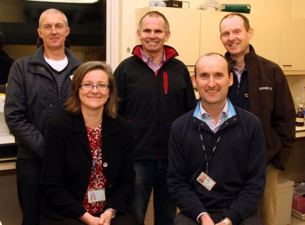
[(41, 160), (17, 159), (17, 191), (23, 209), (22, 225), (39, 225), (43, 186)]

